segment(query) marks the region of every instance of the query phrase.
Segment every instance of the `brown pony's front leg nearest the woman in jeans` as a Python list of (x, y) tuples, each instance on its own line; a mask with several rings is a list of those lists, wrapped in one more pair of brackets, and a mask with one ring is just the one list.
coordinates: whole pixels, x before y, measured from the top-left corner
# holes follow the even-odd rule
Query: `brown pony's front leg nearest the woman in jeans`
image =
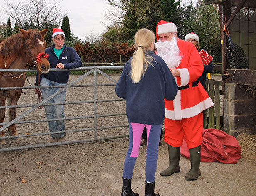
[[(8, 103), (9, 105), (17, 105), (20, 98), (22, 90), (9, 90), (8, 93)], [(9, 108), (9, 122), (16, 118), (17, 108)], [(12, 124), (8, 127), (10, 135), (18, 135), (16, 130), (16, 125)], [(20, 140), (18, 137), (13, 140)]]

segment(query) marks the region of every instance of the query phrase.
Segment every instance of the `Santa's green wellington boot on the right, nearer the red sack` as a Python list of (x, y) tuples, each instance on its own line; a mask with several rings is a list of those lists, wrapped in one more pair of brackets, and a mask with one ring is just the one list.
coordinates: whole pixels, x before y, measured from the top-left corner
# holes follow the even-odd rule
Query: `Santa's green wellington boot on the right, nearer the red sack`
[(188, 181), (196, 180), (199, 176), (201, 176), (201, 171), (199, 169), (201, 162), (201, 145), (190, 149), (190, 162), (191, 169), (185, 176), (185, 179)]

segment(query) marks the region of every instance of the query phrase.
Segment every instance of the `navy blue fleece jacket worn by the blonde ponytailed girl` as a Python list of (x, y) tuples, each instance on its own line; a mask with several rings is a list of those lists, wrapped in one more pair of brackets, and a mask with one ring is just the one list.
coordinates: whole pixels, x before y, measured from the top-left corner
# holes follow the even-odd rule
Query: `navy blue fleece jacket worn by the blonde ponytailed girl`
[(165, 118), (165, 101), (173, 100), (177, 94), (177, 84), (165, 61), (153, 51), (145, 51), (155, 59), (139, 83), (130, 78), (131, 57), (123, 68), (116, 84), (116, 95), (126, 99), (128, 122), (159, 125)]

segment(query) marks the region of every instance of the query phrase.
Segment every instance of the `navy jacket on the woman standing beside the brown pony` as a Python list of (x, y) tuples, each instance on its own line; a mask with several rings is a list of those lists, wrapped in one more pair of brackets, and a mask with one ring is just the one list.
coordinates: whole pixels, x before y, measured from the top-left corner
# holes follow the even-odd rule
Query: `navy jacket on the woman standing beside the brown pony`
[[(48, 61), (51, 64), (51, 68), (56, 68), (58, 63), (64, 64), (64, 69), (72, 69), (82, 66), (81, 58), (76, 53), (75, 49), (72, 47), (67, 47), (65, 44), (63, 45), (62, 54), (60, 54), (59, 59), (53, 51), (53, 47), (49, 47), (45, 49), (45, 53), (49, 54)], [(51, 71), (48, 74), (43, 75), (45, 78), (59, 83), (67, 83), (69, 81), (69, 71)], [(42, 76), (41, 76), (42, 77)], [(40, 77), (40, 79), (41, 79)], [(38, 83), (38, 73), (36, 76), (36, 83)]]

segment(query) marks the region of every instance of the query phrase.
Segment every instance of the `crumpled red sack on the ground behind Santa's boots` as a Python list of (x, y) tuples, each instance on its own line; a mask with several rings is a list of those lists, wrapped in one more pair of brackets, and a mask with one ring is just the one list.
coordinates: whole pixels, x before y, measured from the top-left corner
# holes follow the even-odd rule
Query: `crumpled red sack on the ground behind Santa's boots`
[[(241, 147), (235, 137), (218, 129), (203, 129), (201, 144), (201, 162), (219, 161), (226, 164), (237, 163), (241, 158)], [(190, 158), (185, 139), (180, 154)]]

